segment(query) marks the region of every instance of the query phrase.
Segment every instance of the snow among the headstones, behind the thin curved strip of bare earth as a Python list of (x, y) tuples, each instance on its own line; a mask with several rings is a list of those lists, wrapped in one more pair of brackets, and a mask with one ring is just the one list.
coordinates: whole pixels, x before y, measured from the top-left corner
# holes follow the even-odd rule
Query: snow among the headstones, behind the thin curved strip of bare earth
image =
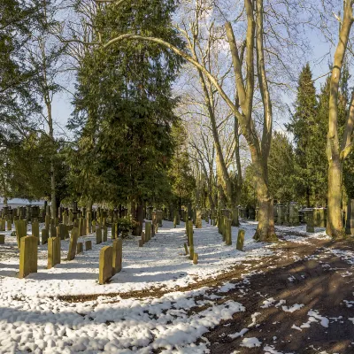
[[(112, 244), (111, 230), (108, 241), (96, 245), (95, 235), (84, 236), (79, 242), (92, 241), (92, 250), (78, 255), (73, 261), (66, 261), (69, 241), (62, 241), (62, 262), (46, 269), (47, 245), (39, 246), (38, 273), (32, 273), (19, 281), (19, 252), (11, 232), (5, 232), (4, 255), (0, 255), (0, 287), (2, 296), (67, 296), (87, 294), (125, 293), (147, 289), (176, 289), (187, 287), (196, 281), (216, 277), (231, 270), (245, 260), (259, 259), (273, 254), (269, 245), (255, 242), (255, 226), (243, 224), (245, 230), (244, 252), (235, 249), (238, 227), (232, 228), (233, 245), (222, 242), (217, 227), (204, 222), (202, 229), (194, 230), (195, 251), (198, 265), (183, 256), (183, 243), (186, 242), (184, 223), (173, 228), (173, 223), (164, 220), (164, 227), (144, 247), (139, 248), (137, 237), (123, 240), (123, 269), (109, 284), (98, 285), (99, 250)], [(30, 231), (28, 232), (30, 234)], [(227, 285), (232, 289), (232, 285)], [(223, 289), (222, 289), (223, 290)]]

